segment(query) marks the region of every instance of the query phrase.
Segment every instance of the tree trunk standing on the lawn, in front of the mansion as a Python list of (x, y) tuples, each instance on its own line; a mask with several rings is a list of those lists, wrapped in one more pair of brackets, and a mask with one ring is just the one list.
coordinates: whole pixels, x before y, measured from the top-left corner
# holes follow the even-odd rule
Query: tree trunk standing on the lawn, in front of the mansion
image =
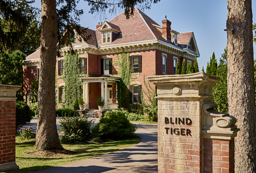
[(57, 57), (56, 1), (41, 0), (42, 33), (38, 90), (36, 149), (63, 150), (59, 142), (55, 116), (55, 65)]

